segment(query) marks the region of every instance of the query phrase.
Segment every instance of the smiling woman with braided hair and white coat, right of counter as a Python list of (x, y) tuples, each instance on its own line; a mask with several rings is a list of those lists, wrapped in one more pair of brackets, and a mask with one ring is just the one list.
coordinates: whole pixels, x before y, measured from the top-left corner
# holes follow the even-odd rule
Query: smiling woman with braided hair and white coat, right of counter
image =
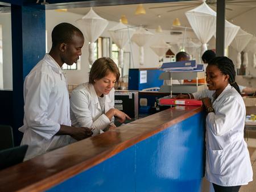
[(201, 99), (206, 117), (205, 177), (214, 191), (239, 191), (253, 181), (249, 151), (243, 139), (245, 104), (228, 57), (215, 57), (206, 69), (208, 90), (176, 98)]

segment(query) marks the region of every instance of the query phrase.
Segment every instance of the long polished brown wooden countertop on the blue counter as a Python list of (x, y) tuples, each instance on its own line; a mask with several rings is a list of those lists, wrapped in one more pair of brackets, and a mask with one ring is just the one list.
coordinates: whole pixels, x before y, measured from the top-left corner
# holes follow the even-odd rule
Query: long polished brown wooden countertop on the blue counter
[(202, 110), (158, 112), (0, 171), (0, 191), (43, 191)]

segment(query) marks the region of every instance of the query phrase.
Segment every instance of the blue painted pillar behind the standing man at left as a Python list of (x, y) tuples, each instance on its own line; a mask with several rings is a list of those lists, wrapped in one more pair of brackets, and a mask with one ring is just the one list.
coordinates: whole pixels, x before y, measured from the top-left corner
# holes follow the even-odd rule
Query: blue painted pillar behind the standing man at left
[(23, 125), (24, 78), (46, 53), (45, 10), (11, 5), (11, 31), (13, 46), (13, 131), (15, 145), (20, 144)]

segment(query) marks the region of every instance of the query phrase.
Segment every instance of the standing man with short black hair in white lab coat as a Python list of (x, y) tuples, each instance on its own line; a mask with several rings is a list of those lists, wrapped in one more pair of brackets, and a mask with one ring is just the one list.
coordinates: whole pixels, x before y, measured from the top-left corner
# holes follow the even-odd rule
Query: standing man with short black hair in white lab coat
[(24, 81), (24, 125), (21, 145), (27, 144), (24, 160), (92, 135), (86, 127), (71, 127), (67, 81), (61, 66), (77, 62), (84, 45), (79, 28), (60, 23), (52, 31), (52, 48)]

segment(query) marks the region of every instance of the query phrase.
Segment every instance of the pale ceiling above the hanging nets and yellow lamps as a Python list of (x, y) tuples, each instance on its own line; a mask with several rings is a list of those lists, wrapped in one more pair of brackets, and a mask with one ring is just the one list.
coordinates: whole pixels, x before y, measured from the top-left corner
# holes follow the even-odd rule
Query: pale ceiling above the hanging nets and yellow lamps
[[(177, 29), (172, 27), (172, 21), (179, 18), (181, 26), (190, 27), (185, 12), (201, 5), (203, 0), (179, 1), (166, 3), (145, 3), (143, 4), (146, 14), (135, 15), (137, 5), (119, 5), (93, 7), (94, 11), (102, 18), (118, 22), (121, 15), (126, 15), (128, 24), (133, 26), (143, 25), (146, 28), (155, 29), (160, 25), (163, 30)], [(216, 11), (216, 0), (207, 0), (208, 5)], [(237, 16), (255, 9), (256, 0), (226, 0), (226, 19), (233, 22), (232, 19)], [(68, 9), (69, 12), (85, 15), (89, 7)]]

